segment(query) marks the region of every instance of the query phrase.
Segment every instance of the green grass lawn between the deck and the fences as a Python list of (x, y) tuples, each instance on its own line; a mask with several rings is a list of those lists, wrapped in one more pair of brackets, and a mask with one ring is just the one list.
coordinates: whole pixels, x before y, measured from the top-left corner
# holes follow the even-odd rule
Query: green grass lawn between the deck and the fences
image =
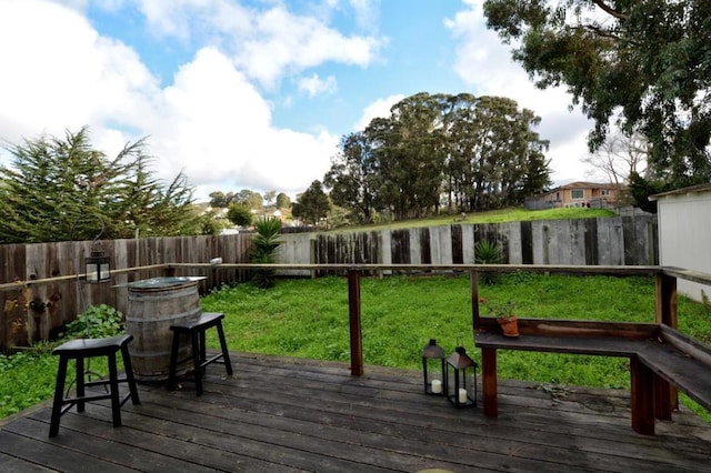
[[(651, 278), (503, 274), (480, 286), (490, 302), (515, 303), (519, 316), (654, 321)], [(230, 350), (348, 362), (348, 282), (344, 278), (279, 280), (272, 289), (223, 288), (201, 300), (223, 312)], [(469, 275), (395, 275), (361, 281), (367, 364), (420, 370), (429, 339), (451, 352), (461, 343), (477, 361)], [(485, 313), (484, 313), (485, 315)], [(679, 329), (711, 344), (711, 309), (679, 298)], [(210, 331), (213, 332), (213, 331)], [(208, 343), (218, 348), (214, 333)], [(629, 389), (627, 359), (501, 351), (502, 378), (565, 385)], [(57, 358), (47, 350), (0, 355), (0, 417), (53, 394)], [(705, 410), (687, 402), (711, 422)]]

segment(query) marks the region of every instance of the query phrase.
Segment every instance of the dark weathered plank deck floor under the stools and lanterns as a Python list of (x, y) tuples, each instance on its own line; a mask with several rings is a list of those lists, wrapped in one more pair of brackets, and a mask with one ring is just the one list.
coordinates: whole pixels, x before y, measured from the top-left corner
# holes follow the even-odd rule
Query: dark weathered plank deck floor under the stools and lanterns
[(108, 403), (67, 413), (54, 439), (49, 403), (0, 421), (0, 471), (711, 472), (711, 425), (682, 410), (639, 435), (625, 392), (501, 382), (488, 419), (425, 396), (418, 372), (232, 356), (201, 397), (141, 384), (118, 429)]

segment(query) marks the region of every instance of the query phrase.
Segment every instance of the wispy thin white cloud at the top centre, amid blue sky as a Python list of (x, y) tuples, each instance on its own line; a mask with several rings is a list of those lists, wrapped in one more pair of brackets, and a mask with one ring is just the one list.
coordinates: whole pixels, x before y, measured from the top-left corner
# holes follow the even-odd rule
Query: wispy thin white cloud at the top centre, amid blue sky
[[(291, 13), (280, 2), (264, 11), (227, 0), (140, 3), (156, 33), (219, 44), (241, 71), (267, 89), (276, 88), (286, 74), (328, 61), (367, 67), (381, 47), (374, 36), (344, 36), (318, 17)], [(368, 2), (356, 1), (353, 7), (359, 18), (372, 14)]]

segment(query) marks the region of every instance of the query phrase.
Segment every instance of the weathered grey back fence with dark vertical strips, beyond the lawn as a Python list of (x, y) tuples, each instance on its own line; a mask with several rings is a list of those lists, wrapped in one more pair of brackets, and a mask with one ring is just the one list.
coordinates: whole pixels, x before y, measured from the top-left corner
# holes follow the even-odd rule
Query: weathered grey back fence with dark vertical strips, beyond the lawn
[(470, 264), (474, 244), (482, 240), (499, 243), (508, 264), (659, 264), (653, 215), (293, 234), (284, 235), (279, 261)]

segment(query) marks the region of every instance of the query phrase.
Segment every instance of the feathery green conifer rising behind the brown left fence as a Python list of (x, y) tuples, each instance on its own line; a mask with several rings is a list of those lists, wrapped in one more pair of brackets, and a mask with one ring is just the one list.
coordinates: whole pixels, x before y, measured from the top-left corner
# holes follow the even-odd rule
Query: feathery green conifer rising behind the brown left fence
[(0, 243), (200, 233), (182, 173), (164, 185), (149, 170), (144, 140), (112, 159), (90, 143), (88, 129), (63, 139), (40, 137), (9, 147), (0, 167)]

